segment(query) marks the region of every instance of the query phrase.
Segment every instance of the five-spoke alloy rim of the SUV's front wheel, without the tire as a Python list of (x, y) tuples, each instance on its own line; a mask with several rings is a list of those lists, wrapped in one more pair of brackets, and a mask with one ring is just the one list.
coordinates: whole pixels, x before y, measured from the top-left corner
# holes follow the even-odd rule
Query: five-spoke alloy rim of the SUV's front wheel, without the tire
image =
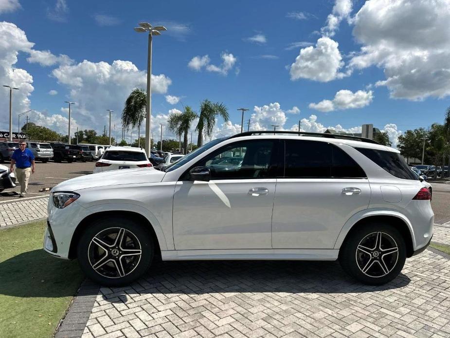
[(107, 278), (121, 278), (130, 274), (141, 260), (141, 244), (130, 230), (111, 227), (97, 233), (90, 241), (90, 266)]

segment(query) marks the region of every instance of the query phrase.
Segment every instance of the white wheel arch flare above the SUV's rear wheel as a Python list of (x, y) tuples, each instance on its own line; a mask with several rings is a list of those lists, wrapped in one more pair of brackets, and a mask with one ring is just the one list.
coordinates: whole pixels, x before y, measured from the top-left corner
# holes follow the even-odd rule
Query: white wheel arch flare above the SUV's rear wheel
[(336, 243), (334, 244), (334, 249), (339, 249), (341, 247), (345, 237), (347, 236), (353, 225), (358, 223), (360, 220), (371, 216), (393, 216), (402, 220), (408, 226), (411, 238), (413, 240), (413, 247), (416, 247), (413, 225), (405, 215), (393, 209), (372, 208), (361, 210), (348, 219), (348, 221), (342, 227), (341, 232), (339, 233)]

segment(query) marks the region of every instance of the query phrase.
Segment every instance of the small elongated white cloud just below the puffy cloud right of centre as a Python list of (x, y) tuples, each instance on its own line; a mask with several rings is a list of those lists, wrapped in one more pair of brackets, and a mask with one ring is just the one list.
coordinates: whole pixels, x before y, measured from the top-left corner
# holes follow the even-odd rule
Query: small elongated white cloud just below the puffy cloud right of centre
[(335, 110), (362, 108), (370, 104), (373, 100), (373, 92), (340, 90), (333, 100), (323, 100), (319, 103), (310, 103), (309, 108), (320, 112), (332, 112)]

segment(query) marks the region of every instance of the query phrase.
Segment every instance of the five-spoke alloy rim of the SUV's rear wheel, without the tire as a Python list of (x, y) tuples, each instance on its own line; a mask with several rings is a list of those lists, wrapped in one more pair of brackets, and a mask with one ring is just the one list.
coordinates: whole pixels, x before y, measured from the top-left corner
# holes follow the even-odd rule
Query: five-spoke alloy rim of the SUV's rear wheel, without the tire
[(363, 274), (379, 278), (389, 274), (398, 260), (398, 245), (392, 236), (377, 231), (364, 236), (356, 249), (356, 263)]

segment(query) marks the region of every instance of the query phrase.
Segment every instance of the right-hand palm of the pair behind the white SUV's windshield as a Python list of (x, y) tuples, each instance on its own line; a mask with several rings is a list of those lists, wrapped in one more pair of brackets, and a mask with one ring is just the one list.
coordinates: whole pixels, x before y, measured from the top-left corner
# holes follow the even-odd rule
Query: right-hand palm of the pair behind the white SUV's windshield
[(216, 117), (220, 115), (225, 121), (230, 119), (227, 107), (223, 103), (213, 103), (210, 100), (203, 100), (200, 104), (200, 114), (198, 116), (198, 124), (196, 130), (198, 131), (197, 146), (200, 147), (203, 143), (203, 132), (206, 136), (211, 137), (216, 124)]

